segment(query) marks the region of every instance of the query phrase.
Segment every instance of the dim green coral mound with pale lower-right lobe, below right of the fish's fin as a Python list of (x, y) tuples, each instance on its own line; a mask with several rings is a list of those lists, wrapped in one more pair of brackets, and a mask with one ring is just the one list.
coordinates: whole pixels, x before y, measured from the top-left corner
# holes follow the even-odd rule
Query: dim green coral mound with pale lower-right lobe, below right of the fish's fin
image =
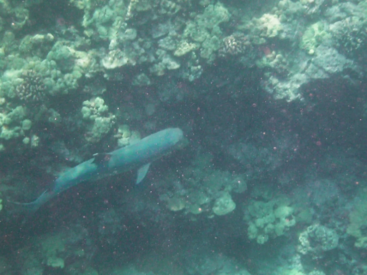
[(162, 189), (167, 188), (167, 182), (174, 183), (175, 188), (174, 192), (167, 190), (160, 200), (169, 204), (169, 208), (183, 209), (183, 214), (192, 214), (192, 220), (201, 213), (206, 213), (209, 218), (230, 213), (236, 207), (230, 194), (247, 189), (243, 175), (215, 169), (211, 154), (200, 154), (179, 174), (184, 175), (181, 182), (177, 182), (176, 172), (162, 180)]

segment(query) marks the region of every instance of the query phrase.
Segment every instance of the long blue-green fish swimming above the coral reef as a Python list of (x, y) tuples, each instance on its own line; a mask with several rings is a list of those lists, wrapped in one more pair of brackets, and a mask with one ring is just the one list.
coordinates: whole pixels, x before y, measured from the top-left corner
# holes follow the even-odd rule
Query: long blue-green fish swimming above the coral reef
[(150, 163), (173, 150), (180, 148), (187, 140), (179, 128), (167, 128), (149, 135), (134, 144), (119, 148), (109, 153), (97, 153), (87, 161), (62, 173), (31, 203), (17, 203), (23, 211), (35, 212), (45, 203), (69, 188), (89, 180), (98, 180), (112, 175), (138, 169), (136, 184), (143, 181)]

